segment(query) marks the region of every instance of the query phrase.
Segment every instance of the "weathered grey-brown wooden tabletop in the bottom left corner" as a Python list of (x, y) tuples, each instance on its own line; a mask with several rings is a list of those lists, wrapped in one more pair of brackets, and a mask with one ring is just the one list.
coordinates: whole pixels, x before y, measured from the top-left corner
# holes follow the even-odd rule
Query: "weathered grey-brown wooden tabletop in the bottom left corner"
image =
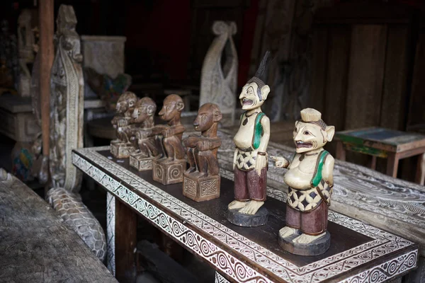
[(16, 177), (0, 181), (0, 282), (117, 282), (55, 210)]

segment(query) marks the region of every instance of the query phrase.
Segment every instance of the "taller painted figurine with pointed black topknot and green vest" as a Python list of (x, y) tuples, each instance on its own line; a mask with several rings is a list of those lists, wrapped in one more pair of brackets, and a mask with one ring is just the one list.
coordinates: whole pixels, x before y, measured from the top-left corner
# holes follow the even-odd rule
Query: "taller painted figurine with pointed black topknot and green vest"
[(239, 131), (234, 136), (234, 201), (228, 206), (227, 219), (239, 226), (266, 224), (268, 212), (262, 208), (266, 200), (267, 145), (270, 121), (261, 111), (270, 88), (261, 78), (268, 60), (266, 52), (256, 75), (242, 88), (239, 96), (242, 109)]

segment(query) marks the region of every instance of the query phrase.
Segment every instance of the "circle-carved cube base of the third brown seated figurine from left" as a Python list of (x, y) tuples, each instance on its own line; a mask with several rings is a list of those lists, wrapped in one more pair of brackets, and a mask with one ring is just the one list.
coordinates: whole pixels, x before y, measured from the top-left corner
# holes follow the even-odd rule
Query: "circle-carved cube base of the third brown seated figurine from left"
[(152, 161), (152, 178), (162, 183), (162, 185), (183, 182), (184, 171), (186, 171), (186, 161), (184, 159), (174, 161), (155, 159)]

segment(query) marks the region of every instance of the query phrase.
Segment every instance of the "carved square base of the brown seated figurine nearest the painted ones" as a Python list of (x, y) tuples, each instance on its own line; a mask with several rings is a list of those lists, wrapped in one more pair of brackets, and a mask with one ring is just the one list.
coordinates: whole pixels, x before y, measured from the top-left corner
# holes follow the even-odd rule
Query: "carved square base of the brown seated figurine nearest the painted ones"
[(220, 176), (196, 176), (183, 174), (183, 195), (196, 202), (213, 200), (220, 197)]

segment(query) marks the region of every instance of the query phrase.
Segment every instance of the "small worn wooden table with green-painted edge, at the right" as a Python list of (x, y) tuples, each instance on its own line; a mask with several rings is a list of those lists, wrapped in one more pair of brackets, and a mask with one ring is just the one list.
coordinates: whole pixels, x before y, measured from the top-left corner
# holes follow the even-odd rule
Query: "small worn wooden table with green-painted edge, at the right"
[(419, 155), (416, 183), (425, 180), (425, 135), (395, 131), (380, 127), (336, 132), (336, 158), (346, 160), (346, 150), (373, 156), (371, 168), (376, 167), (376, 158), (387, 158), (387, 175), (397, 178), (399, 159)]

